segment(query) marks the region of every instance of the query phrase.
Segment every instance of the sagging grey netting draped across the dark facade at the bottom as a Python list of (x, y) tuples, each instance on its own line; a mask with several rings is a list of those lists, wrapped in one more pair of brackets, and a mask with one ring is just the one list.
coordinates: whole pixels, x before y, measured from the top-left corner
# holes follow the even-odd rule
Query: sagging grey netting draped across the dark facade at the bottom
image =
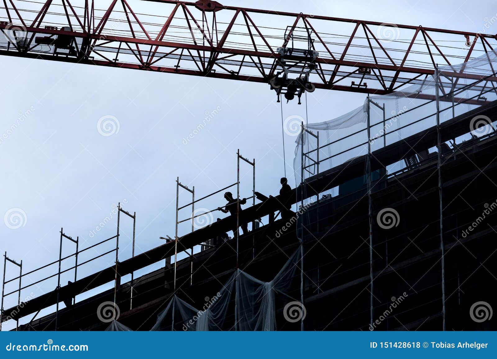
[[(174, 295), (157, 318), (151, 330), (183, 331), (274, 331), (276, 330), (276, 300), (295, 300), (287, 293), (300, 285), (296, 278), (300, 249), (285, 263), (270, 282), (262, 282), (238, 269), (203, 309), (197, 310)], [(297, 276), (299, 277), (299, 276)], [(235, 301), (235, 307), (230, 305)], [(228, 316), (235, 316), (235, 325), (226, 327)]]

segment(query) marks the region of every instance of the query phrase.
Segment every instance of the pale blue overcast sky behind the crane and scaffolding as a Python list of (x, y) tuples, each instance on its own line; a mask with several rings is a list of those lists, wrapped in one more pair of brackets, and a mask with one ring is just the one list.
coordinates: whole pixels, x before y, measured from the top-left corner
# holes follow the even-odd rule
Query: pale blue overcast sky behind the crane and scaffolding
[[(485, 18), (496, 15), (493, 0), (478, 1), (478, 6), (463, 0), (221, 2), (475, 32), (482, 29)], [(497, 25), (493, 27), (489, 32), (497, 33)], [(1, 57), (0, 62), (0, 132), (9, 129), (20, 114), (25, 116), (0, 144), (0, 214), (22, 210), (19, 228), (12, 228), (17, 227), (15, 223), (0, 225), (0, 251), (22, 260), (24, 271), (58, 259), (61, 227), (67, 235), (79, 236), (80, 248), (114, 235), (115, 218), (95, 229), (118, 202), (125, 202), (126, 211), (137, 212), (136, 253), (163, 244), (159, 236), (174, 236), (176, 177), (190, 188), (195, 186), (197, 198), (235, 183), (238, 148), (243, 156), (255, 158), (256, 190), (266, 195), (279, 191), (284, 175), (280, 105), (267, 84), (15, 57)], [(329, 120), (361, 105), (364, 98), (363, 94), (316, 90), (308, 95), (308, 121)], [(185, 141), (213, 112), (207, 126)], [(305, 118), (305, 103), (284, 104), (283, 112), (285, 118)], [(118, 122), (118, 132), (102, 136), (97, 130), (101, 118)], [(286, 171), (292, 187), (294, 141), (295, 137), (285, 135)], [(249, 197), (252, 176), (247, 164), (241, 178), (241, 197)], [(236, 195), (236, 187), (232, 192)], [(181, 191), (180, 205), (189, 199)], [(219, 194), (198, 207), (224, 204)], [(188, 215), (184, 210), (180, 219)], [(216, 213), (221, 215), (225, 216)], [(132, 221), (121, 218), (119, 259), (124, 260), (131, 255)], [(188, 224), (179, 235), (187, 230)], [(64, 254), (70, 252), (74, 245), (66, 240)], [(78, 277), (113, 263), (108, 255), (79, 269)], [(67, 261), (63, 269), (72, 265)], [(16, 271), (7, 264), (7, 279)], [(54, 266), (44, 273), (56, 271)], [(67, 274), (62, 283), (72, 276), (73, 272)], [(54, 280), (26, 289), (21, 298), (53, 290)], [(25, 284), (30, 282), (26, 278)], [(13, 285), (6, 291), (17, 284)], [(10, 296), (4, 307), (15, 301)]]

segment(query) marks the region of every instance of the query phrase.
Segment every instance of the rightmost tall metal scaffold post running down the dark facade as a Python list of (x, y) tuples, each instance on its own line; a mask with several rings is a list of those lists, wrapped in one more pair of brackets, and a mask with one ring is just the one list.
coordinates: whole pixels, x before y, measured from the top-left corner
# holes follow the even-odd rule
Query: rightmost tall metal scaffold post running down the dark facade
[(435, 101), (436, 101), (436, 132), (437, 132), (437, 166), (438, 166), (438, 200), (440, 204), (440, 251), (441, 251), (441, 275), (442, 275), (442, 330), (445, 331), (445, 246), (443, 243), (443, 207), (442, 207), (442, 139), (440, 135), (440, 73), (438, 65), (435, 67)]

